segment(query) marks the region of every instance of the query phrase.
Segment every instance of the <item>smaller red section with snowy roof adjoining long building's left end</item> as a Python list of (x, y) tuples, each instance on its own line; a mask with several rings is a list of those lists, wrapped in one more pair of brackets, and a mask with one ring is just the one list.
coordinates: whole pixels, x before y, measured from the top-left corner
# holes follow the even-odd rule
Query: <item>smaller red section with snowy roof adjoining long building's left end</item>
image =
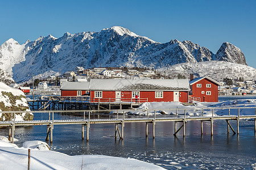
[(60, 86), (61, 96), (89, 95), (89, 82), (63, 82)]

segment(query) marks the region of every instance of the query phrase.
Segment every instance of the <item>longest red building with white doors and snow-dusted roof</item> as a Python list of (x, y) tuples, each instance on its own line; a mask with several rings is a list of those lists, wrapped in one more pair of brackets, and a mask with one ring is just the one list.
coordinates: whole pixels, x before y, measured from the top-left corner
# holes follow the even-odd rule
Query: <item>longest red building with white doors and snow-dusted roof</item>
[(188, 102), (188, 79), (92, 79), (90, 101)]

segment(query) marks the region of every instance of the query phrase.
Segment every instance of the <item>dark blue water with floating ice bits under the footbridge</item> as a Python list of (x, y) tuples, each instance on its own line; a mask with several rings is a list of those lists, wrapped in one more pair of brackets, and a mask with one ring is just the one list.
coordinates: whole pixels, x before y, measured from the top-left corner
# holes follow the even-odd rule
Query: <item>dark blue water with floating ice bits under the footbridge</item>
[[(219, 100), (225, 100), (225, 97), (220, 96)], [(54, 117), (58, 119), (78, 116), (55, 114)], [(97, 118), (98, 115), (94, 117)], [(109, 117), (109, 115), (102, 114), (99, 117)], [(35, 114), (35, 120), (42, 118), (47, 119), (48, 114)], [(236, 121), (230, 122), (236, 130)], [(148, 126), (149, 134), (146, 138), (144, 123), (127, 123), (124, 131), (125, 139), (121, 141), (119, 138), (114, 138), (114, 124), (92, 124), (89, 142), (81, 140), (81, 125), (55, 125), (53, 143), (49, 146), (53, 151), (68, 155), (99, 154), (135, 158), (158, 164), (166, 169), (256, 168), (254, 121), (240, 121), (239, 136), (233, 135), (231, 130), (228, 135), (224, 121), (214, 121), (213, 125), (214, 135), (211, 137), (209, 122), (204, 122), (203, 135), (200, 131), (200, 121), (188, 122), (185, 126), (186, 135), (183, 138), (182, 130), (177, 137), (174, 137), (174, 122), (156, 122), (155, 139), (152, 139), (151, 124)], [(177, 128), (180, 126), (181, 123), (178, 123)], [(20, 140), (16, 144), (21, 146), (24, 141), (44, 141), (46, 130), (46, 126), (16, 128), (15, 138)], [(1, 135), (7, 135), (7, 131), (0, 129)]]

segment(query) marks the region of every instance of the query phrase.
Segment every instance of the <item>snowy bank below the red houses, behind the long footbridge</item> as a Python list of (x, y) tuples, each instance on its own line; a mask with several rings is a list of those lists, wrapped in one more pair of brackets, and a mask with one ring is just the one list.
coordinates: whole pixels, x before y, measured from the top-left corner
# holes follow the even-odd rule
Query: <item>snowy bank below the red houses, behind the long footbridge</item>
[[(214, 103), (208, 102), (197, 102), (193, 105), (183, 105), (177, 102), (152, 102), (152, 103), (143, 103), (134, 111), (130, 111), (127, 114), (134, 114), (140, 116), (147, 116), (147, 112), (149, 116), (154, 115), (154, 111), (156, 114), (177, 114), (184, 115), (184, 109), (186, 115), (188, 116), (201, 116), (202, 109), (204, 112), (204, 116), (221, 116), (228, 115), (229, 108), (230, 114), (237, 115), (238, 107), (242, 107), (240, 109), (240, 115), (249, 115), (255, 114), (256, 108), (256, 99), (240, 99), (240, 100), (229, 100), (229, 101), (220, 101)], [(253, 108), (251, 108), (253, 107)], [(148, 109), (148, 111), (147, 111)]]

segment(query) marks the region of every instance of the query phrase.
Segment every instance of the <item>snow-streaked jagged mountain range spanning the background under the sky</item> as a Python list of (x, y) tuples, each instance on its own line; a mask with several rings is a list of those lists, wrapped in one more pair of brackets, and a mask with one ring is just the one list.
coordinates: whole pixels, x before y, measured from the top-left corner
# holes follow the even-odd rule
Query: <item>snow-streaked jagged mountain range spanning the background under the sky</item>
[[(225, 42), (224, 42), (225, 44)], [(16, 82), (27, 75), (74, 70), (76, 66), (167, 67), (177, 63), (223, 60), (246, 65), (242, 52), (232, 44), (222, 45), (217, 54), (191, 41), (171, 40), (161, 44), (138, 36), (127, 28), (112, 27), (100, 32), (49, 35), (19, 45), (13, 39), (0, 46), (0, 68)], [(240, 50), (241, 51), (241, 50)], [(216, 57), (217, 56), (217, 57)]]

